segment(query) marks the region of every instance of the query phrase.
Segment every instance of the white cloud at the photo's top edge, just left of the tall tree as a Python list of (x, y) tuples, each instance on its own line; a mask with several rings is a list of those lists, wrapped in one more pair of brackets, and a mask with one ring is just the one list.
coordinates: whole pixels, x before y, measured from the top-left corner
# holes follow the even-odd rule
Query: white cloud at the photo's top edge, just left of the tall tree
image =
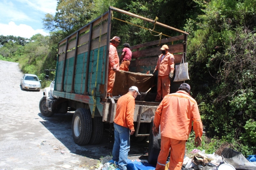
[(56, 12), (56, 0), (18, 0), (26, 3), (30, 8), (44, 13), (54, 14)]

